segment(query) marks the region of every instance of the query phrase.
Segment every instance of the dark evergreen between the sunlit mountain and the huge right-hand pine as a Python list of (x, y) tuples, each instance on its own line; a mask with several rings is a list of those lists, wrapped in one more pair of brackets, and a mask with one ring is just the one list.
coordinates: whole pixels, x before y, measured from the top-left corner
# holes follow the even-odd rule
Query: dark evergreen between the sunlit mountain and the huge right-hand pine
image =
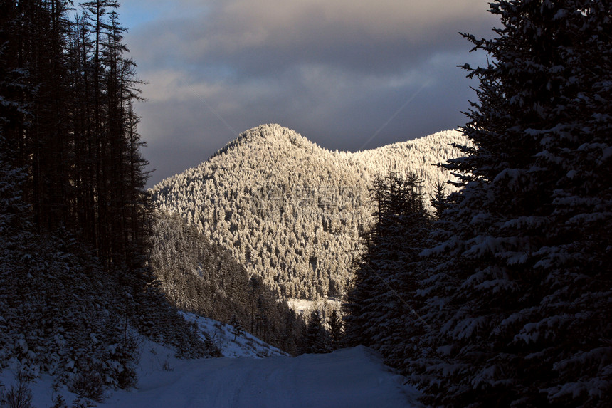
[(425, 209), (421, 180), (389, 173), (371, 191), (376, 223), (364, 236), (365, 253), (349, 291), (347, 340), (381, 351), (389, 364), (403, 365), (413, 350), (423, 278), (418, 253), (428, 245), (431, 216)]

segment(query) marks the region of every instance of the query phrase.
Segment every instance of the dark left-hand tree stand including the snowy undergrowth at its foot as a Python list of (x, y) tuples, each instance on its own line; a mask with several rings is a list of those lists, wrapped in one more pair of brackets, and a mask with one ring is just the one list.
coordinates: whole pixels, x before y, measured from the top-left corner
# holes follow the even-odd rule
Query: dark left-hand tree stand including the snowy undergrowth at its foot
[(137, 81), (117, 14), (97, 7), (92, 26), (70, 21), (71, 5), (0, 1), (0, 370), (54, 373), (80, 393), (88, 375), (134, 385), (130, 326), (179, 355), (211, 350), (147, 267)]

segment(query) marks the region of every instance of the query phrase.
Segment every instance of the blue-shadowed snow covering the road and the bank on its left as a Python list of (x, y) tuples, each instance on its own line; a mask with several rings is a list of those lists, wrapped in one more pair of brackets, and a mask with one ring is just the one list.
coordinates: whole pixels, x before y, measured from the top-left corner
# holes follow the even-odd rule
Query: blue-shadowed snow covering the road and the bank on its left
[[(233, 342), (229, 325), (185, 317), (226, 357), (179, 360), (173, 350), (144, 340), (137, 387), (107, 392), (98, 407), (418, 407), (418, 391), (367, 347), (287, 357), (248, 334)], [(14, 376), (6, 370), (0, 381), (9, 389)], [(76, 396), (52, 384), (48, 375), (28, 383), (33, 407), (50, 407), (58, 394), (70, 407)]]

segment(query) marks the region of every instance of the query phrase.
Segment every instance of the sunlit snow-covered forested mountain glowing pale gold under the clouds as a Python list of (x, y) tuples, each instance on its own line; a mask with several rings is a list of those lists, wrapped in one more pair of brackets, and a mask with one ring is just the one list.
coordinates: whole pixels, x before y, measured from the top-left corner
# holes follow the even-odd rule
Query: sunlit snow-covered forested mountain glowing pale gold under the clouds
[(369, 188), (387, 172), (414, 172), (433, 186), (450, 178), (436, 166), (465, 143), (448, 130), (364, 152), (332, 152), (280, 125), (244, 132), (199, 167), (152, 189), (176, 212), (226, 246), (286, 298), (345, 293), (359, 231), (371, 219)]

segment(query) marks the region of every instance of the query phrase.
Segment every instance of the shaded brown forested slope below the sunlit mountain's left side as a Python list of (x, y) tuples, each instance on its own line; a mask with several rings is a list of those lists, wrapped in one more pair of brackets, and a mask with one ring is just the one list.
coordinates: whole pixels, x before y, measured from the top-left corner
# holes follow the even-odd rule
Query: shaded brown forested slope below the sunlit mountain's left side
[(177, 214), (155, 217), (149, 262), (159, 288), (177, 308), (239, 326), (293, 355), (302, 350), (300, 316), (260, 276), (249, 276), (226, 248)]

